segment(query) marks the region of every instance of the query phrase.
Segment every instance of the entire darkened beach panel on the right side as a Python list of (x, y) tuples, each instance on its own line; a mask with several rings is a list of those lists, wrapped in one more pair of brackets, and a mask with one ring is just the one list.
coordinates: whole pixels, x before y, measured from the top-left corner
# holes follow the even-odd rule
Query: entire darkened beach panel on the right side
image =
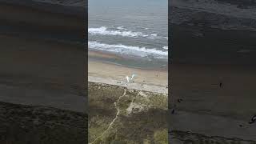
[(255, 143), (255, 5), (170, 2), (169, 142)]

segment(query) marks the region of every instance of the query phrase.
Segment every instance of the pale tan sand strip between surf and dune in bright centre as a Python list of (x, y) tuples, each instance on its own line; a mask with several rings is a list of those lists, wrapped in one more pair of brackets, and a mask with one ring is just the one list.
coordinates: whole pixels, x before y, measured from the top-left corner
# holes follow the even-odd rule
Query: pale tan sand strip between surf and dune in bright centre
[[(101, 58), (119, 58), (113, 54), (103, 54), (98, 52), (89, 52), (89, 56)], [(166, 88), (168, 85), (167, 70), (144, 70), (138, 68), (131, 68), (97, 60), (88, 61), (88, 75), (95, 78), (112, 79), (117, 82), (126, 82), (126, 76), (131, 77), (136, 74), (134, 82), (138, 87), (143, 85), (159, 86)], [(117, 83), (118, 84), (118, 83)], [(120, 83), (121, 84), (121, 83)]]

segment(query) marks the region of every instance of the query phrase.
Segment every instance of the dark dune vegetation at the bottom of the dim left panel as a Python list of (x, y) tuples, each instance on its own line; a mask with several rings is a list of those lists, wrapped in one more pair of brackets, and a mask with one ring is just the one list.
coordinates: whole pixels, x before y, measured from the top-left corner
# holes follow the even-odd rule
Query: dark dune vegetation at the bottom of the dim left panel
[(0, 102), (0, 143), (86, 143), (87, 114)]

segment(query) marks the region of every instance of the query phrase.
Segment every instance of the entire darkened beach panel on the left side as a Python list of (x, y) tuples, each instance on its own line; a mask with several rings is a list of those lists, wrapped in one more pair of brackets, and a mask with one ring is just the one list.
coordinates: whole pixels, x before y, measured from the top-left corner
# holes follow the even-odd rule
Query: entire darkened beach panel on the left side
[(0, 3), (0, 141), (87, 142), (86, 6)]

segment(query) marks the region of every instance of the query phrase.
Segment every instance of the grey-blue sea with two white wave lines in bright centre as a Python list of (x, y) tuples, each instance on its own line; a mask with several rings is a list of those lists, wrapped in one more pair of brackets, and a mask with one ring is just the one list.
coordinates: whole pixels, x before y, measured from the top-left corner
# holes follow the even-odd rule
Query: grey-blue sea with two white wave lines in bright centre
[(167, 0), (89, 0), (89, 48), (167, 62)]

